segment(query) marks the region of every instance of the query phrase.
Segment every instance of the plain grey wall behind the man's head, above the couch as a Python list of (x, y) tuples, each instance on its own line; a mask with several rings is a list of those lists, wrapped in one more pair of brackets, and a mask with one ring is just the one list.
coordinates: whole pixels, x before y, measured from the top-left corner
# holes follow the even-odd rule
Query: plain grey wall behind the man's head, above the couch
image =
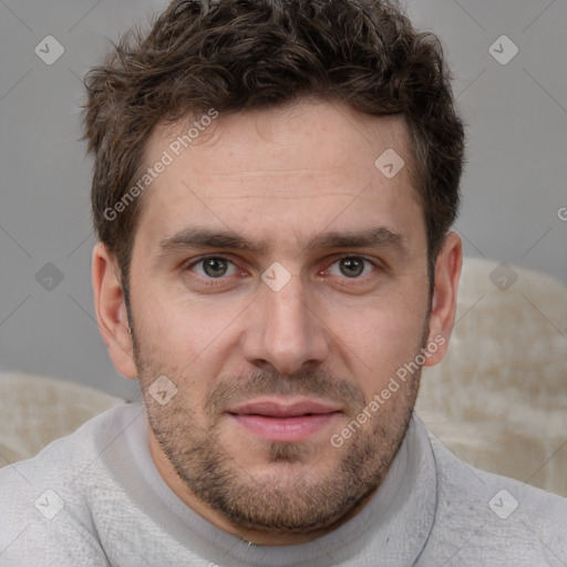
[[(0, 0), (0, 370), (135, 396), (93, 316), (79, 102), (109, 39), (165, 3)], [(567, 1), (411, 0), (408, 9), (441, 37), (468, 123), (455, 227), (465, 254), (567, 282)], [(61, 48), (48, 35), (64, 49), (52, 64), (43, 60)]]

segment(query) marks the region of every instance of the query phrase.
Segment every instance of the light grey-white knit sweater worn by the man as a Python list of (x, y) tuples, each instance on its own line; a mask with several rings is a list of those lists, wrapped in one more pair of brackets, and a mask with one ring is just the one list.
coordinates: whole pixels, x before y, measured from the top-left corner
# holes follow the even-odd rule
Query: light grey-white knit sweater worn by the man
[(126, 404), (0, 470), (1, 567), (109, 565), (566, 567), (567, 499), (468, 466), (414, 415), (357, 516), (307, 544), (248, 545), (173, 493), (143, 405)]

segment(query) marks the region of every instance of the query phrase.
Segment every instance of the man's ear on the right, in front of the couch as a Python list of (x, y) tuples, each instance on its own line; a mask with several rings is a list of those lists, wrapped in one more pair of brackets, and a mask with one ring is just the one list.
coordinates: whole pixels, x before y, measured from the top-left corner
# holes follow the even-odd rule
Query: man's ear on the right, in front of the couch
[(435, 287), (433, 290), (427, 344), (436, 344), (435, 352), (430, 349), (425, 367), (439, 364), (445, 357), (449, 339), (453, 330), (456, 311), (456, 292), (463, 265), (463, 246), (456, 233), (450, 233), (435, 264)]

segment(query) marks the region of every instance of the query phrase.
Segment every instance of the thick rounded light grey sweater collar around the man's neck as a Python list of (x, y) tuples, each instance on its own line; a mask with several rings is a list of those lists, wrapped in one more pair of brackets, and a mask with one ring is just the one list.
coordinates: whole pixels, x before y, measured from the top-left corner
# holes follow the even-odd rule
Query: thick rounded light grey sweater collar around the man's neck
[[(143, 434), (140, 431), (140, 435)], [(147, 435), (144, 447), (143, 453), (147, 447)], [(225, 533), (173, 493), (155, 465), (152, 466), (148, 449), (137, 457), (145, 462), (144, 476), (157, 493), (162, 506), (166, 504), (176, 517), (176, 525), (166, 529), (169, 532), (171, 528), (172, 535), (179, 533), (179, 524), (185, 533), (189, 529), (199, 539), (197, 548), (215, 549), (218, 565), (319, 567), (350, 565), (349, 561), (352, 565), (379, 564), (384, 567), (414, 565), (425, 547), (435, 518), (435, 460), (426, 427), (415, 413), (384, 482), (367, 505), (333, 532), (298, 545), (257, 546)], [(172, 519), (169, 514), (165, 516)], [(210, 560), (215, 565), (215, 557)]]

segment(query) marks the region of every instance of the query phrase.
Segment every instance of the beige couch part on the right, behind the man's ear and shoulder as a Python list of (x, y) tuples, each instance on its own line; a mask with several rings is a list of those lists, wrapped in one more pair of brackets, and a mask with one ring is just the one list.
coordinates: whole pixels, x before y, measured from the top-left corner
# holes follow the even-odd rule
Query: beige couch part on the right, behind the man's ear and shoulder
[(417, 412), (468, 463), (567, 496), (567, 288), (498, 265), (465, 260), (449, 353), (424, 369)]

